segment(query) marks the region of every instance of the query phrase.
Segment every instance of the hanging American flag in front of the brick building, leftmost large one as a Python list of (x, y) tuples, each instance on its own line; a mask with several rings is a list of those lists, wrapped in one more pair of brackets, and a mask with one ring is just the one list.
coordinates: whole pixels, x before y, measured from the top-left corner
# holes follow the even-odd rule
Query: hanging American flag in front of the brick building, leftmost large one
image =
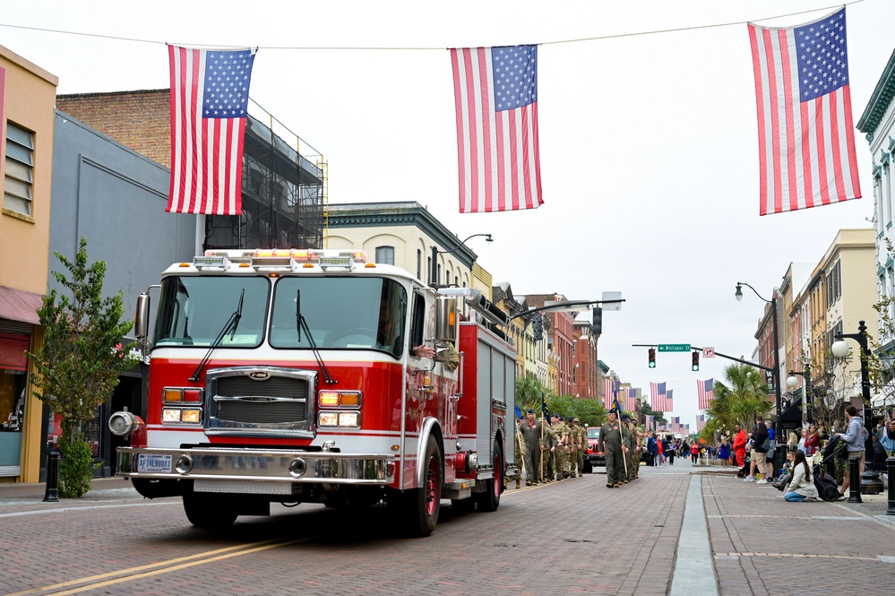
[(167, 212), (242, 212), (243, 133), (254, 49), (168, 46), (171, 188)]

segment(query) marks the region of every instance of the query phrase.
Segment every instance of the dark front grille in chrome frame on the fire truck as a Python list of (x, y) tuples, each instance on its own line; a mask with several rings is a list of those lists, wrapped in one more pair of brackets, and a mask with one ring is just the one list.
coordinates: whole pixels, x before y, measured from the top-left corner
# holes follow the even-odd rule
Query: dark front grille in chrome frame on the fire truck
[[(280, 424), (307, 419), (308, 383), (305, 379), (271, 376), (255, 381), (247, 376), (219, 378), (219, 420), (243, 424)], [(242, 399), (226, 399), (226, 398)], [(280, 398), (280, 399), (267, 399)]]

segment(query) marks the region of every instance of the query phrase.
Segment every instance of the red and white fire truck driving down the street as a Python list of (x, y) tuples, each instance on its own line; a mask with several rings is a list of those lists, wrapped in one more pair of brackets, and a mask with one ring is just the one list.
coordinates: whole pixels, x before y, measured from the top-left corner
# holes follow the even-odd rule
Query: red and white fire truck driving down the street
[(443, 498), (494, 511), (518, 473), (508, 319), (478, 291), (314, 249), (209, 250), (153, 288), (153, 333), (150, 290), (135, 321), (145, 421), (109, 419), (130, 436), (116, 475), (183, 497), (194, 525), (384, 501), (426, 536)]

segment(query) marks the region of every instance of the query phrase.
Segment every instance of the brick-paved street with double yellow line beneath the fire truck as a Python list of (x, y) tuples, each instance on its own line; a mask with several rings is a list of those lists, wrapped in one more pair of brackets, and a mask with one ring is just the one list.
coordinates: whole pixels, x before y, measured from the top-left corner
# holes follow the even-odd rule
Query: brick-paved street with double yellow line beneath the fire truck
[[(895, 578), (885, 495), (786, 503), (775, 488), (692, 471), (706, 469), (643, 468), (614, 489), (601, 474), (510, 489), (494, 514), (455, 514), (445, 501), (433, 536), (418, 540), (395, 536), (382, 507), (276, 505), (211, 534), (177, 499), (144, 500), (122, 480), (58, 504), (41, 502), (42, 486), (0, 487), (0, 593), (665, 594), (675, 573), (712, 565), (721, 594), (878, 592)], [(686, 566), (677, 557), (695, 552), (679, 544), (692, 482), (710, 556)]]

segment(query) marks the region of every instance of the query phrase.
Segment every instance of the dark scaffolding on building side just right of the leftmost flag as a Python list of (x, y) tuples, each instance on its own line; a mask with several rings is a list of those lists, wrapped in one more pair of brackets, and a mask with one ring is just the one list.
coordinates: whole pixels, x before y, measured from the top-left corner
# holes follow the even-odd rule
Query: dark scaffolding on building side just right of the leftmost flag
[(205, 216), (203, 248), (323, 248), (323, 155), (259, 109), (271, 124), (246, 118), (242, 214)]

